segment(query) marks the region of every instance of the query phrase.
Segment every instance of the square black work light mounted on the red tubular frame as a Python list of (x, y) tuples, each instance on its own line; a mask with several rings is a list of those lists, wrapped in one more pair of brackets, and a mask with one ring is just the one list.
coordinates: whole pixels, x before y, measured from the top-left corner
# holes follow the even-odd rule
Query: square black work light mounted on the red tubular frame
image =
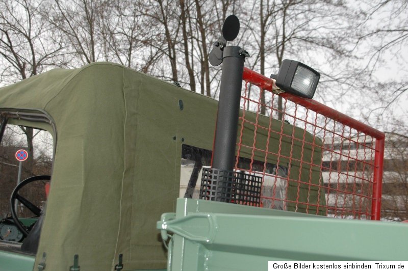
[(276, 79), (276, 86), (285, 92), (312, 99), (320, 73), (301, 62), (285, 59), (277, 76), (272, 74), (271, 78)]

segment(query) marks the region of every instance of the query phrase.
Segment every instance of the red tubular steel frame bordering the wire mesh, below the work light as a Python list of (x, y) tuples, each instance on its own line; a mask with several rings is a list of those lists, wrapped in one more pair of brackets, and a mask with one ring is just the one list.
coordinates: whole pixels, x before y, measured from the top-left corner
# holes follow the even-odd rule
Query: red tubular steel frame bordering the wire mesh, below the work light
[[(261, 89), (272, 92), (274, 86), (274, 80), (268, 78), (258, 72), (250, 70), (244, 67), (244, 73), (242, 79), (245, 82), (249, 82), (253, 85), (260, 87)], [(317, 102), (312, 99), (301, 98), (299, 96), (290, 93), (280, 93), (282, 96), (294, 103), (300, 104), (301, 106), (310, 109), (316, 113), (319, 113), (325, 117), (343, 123), (355, 130), (364, 132), (368, 136), (376, 139), (375, 141), (375, 156), (374, 156), (374, 175), (373, 175), (373, 199), (371, 202), (371, 220), (380, 220), (381, 212), (381, 194), (382, 194), (382, 166), (384, 162), (384, 141), (385, 133), (374, 129), (358, 120), (355, 120), (343, 113), (340, 113), (330, 107)]]

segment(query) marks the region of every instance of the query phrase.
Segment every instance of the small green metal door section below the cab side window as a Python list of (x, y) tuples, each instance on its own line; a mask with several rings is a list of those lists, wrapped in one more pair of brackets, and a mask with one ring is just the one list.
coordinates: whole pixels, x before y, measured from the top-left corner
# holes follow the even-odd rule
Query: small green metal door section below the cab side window
[(0, 270), (2, 271), (32, 271), (34, 261), (35, 256), (0, 251)]

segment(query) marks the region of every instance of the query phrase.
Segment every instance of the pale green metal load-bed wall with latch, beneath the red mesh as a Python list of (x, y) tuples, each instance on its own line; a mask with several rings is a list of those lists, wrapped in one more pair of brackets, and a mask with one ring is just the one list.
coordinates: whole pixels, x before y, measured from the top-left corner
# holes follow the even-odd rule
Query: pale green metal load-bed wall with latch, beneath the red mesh
[(269, 260), (408, 260), (404, 223), (179, 199), (175, 219), (164, 224), (158, 229), (175, 232), (171, 270), (267, 270)]

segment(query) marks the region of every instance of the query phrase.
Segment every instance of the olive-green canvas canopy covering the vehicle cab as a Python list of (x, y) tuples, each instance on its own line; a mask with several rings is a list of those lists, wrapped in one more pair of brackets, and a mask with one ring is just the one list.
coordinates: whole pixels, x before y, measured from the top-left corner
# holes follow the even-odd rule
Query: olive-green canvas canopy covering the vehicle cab
[[(0, 109), (44, 113), (55, 126), (55, 131), (50, 125), (37, 126), (53, 133), (55, 156), (35, 269), (44, 252), (47, 270), (66, 270), (75, 254), (84, 270), (113, 269), (119, 254), (126, 270), (166, 267), (156, 222), (162, 213), (175, 210), (182, 144), (212, 149), (216, 100), (117, 64), (94, 63), (54, 69), (1, 88)], [(269, 118), (259, 121), (266, 126)], [(24, 120), (10, 122), (27, 125)], [(281, 124), (272, 123), (279, 130)], [(285, 123), (284, 132), (292, 134), (292, 126)], [(265, 145), (266, 136), (258, 131), (257, 144)], [(296, 128), (295, 137), (303, 136)], [(277, 151), (274, 137), (271, 151)], [(313, 137), (307, 133), (305, 139)], [(243, 140), (252, 145), (250, 136)], [(300, 157), (300, 145), (293, 144), (294, 156)], [(289, 157), (290, 151), (291, 140), (286, 139), (282, 154)], [(321, 153), (314, 151), (314, 164), (319, 164)], [(306, 146), (304, 157), (311, 152)], [(251, 156), (245, 150), (241, 154)], [(264, 154), (255, 153), (255, 158), (263, 160)], [(276, 164), (276, 158), (268, 159)], [(293, 161), (294, 179), (298, 168)], [(309, 174), (304, 165), (302, 178), (309, 180)], [(313, 169), (312, 182), (317, 183), (319, 174)], [(289, 187), (288, 198), (295, 194)], [(300, 200), (306, 197), (300, 195)], [(312, 187), (311, 201), (317, 195)]]

